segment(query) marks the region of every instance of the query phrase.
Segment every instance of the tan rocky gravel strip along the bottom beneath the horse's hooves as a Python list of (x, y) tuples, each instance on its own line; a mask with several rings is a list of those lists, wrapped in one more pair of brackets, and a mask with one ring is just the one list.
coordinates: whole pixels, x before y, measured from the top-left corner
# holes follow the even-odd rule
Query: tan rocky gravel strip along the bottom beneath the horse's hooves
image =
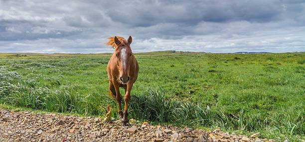
[(118, 121), (109, 123), (100, 118), (0, 109), (0, 142), (275, 142), (259, 139), (259, 135), (237, 136), (147, 122), (121, 127)]

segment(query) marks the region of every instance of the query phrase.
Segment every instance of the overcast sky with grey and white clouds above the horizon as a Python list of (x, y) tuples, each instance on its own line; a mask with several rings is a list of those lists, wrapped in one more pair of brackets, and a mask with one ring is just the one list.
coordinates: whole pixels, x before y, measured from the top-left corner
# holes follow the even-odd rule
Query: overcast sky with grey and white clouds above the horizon
[(305, 51), (305, 0), (0, 0), (0, 52)]

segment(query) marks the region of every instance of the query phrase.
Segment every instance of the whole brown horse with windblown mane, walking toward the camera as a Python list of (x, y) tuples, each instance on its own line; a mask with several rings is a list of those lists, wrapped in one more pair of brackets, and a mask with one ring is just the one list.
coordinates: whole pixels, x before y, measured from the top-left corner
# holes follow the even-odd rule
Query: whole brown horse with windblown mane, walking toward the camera
[[(109, 94), (117, 100), (121, 125), (126, 126), (129, 122), (128, 104), (133, 84), (138, 78), (139, 65), (130, 47), (133, 40), (131, 36), (128, 37), (127, 41), (119, 36), (109, 37), (108, 39), (109, 41), (106, 44), (115, 48), (107, 65)], [(119, 87), (125, 89), (124, 114), (122, 113), (122, 95), (120, 94)]]

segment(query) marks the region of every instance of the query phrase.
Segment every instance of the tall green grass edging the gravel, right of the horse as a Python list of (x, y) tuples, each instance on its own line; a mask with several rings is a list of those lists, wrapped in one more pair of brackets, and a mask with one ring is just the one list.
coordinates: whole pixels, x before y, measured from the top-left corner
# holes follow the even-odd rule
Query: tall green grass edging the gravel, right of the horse
[[(199, 103), (181, 102), (170, 99), (162, 93), (149, 90), (149, 93), (133, 96), (130, 105), (133, 118), (154, 122), (174, 122), (187, 126), (204, 126), (244, 132), (263, 131), (272, 128), (284, 135), (304, 135), (304, 116), (298, 114), (278, 113), (275, 116), (265, 117), (257, 114), (246, 115), (241, 110), (238, 115), (225, 112), (211, 111), (208, 106)], [(303, 112), (304, 113), (304, 112)]]

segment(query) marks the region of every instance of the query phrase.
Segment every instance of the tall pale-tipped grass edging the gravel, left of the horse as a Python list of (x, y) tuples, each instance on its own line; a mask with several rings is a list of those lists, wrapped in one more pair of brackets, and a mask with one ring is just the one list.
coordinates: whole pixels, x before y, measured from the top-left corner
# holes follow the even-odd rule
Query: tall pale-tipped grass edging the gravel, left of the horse
[(104, 106), (109, 103), (114, 104), (108, 96), (98, 94), (82, 96), (74, 91), (74, 87), (54, 91), (47, 87), (37, 87), (35, 84), (34, 81), (22, 80), (21, 75), (16, 72), (8, 72), (0, 68), (0, 102), (34, 110), (84, 115), (104, 114), (106, 111)]

